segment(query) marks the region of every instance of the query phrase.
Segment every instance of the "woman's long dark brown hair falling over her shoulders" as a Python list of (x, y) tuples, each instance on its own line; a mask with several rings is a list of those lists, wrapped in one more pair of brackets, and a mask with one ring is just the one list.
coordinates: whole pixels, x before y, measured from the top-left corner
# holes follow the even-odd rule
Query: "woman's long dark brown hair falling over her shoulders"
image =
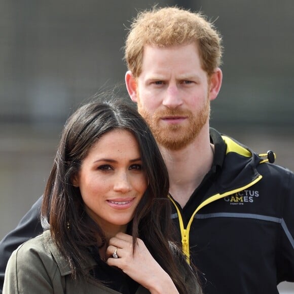
[(179, 271), (175, 254), (170, 250), (173, 227), (164, 160), (148, 125), (136, 109), (122, 99), (89, 102), (67, 120), (45, 188), (42, 217), (49, 220), (51, 235), (68, 261), (72, 277), (91, 279), (89, 248), (103, 246), (105, 236), (85, 212), (80, 189), (72, 185), (72, 178), (93, 144), (114, 129), (128, 130), (136, 138), (149, 182), (131, 223), (134, 245), (135, 238), (141, 238), (179, 292), (188, 293), (187, 277)]

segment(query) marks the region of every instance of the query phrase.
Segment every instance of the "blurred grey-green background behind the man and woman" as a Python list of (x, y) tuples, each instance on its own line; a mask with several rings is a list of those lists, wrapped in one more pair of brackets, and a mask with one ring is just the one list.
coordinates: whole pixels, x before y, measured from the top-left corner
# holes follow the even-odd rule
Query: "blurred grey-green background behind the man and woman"
[(114, 86), (127, 97), (126, 28), (157, 3), (201, 10), (223, 35), (211, 126), (294, 170), (294, 1), (1, 0), (0, 239), (42, 195), (68, 115)]

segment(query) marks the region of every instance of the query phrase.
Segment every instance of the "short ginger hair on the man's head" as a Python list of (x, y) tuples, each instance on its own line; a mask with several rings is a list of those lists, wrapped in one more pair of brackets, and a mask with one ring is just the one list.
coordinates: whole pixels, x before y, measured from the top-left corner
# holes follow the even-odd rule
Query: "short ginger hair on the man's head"
[(195, 43), (202, 68), (210, 77), (222, 63), (222, 37), (200, 12), (177, 7), (139, 12), (133, 20), (124, 47), (125, 61), (135, 78), (142, 70), (144, 46), (171, 47)]

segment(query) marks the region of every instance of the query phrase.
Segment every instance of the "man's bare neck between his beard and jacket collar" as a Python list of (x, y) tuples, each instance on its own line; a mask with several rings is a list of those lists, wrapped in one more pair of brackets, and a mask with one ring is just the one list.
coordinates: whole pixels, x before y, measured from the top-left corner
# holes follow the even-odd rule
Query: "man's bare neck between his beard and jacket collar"
[(161, 152), (168, 169), (169, 192), (180, 206), (184, 207), (213, 162), (209, 130), (202, 130), (185, 149), (170, 151), (161, 147)]

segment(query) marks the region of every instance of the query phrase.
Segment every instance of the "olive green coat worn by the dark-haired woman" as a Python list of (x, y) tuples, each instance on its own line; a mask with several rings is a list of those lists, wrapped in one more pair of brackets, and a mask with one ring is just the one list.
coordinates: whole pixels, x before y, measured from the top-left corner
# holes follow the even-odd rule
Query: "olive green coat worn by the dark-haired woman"
[[(95, 265), (94, 261), (92, 265)], [(51, 239), (50, 232), (46, 231), (23, 243), (12, 253), (6, 268), (3, 293), (115, 294), (119, 292), (85, 280), (73, 280), (68, 264)], [(142, 286), (136, 291), (136, 294), (146, 293), (150, 292)]]

